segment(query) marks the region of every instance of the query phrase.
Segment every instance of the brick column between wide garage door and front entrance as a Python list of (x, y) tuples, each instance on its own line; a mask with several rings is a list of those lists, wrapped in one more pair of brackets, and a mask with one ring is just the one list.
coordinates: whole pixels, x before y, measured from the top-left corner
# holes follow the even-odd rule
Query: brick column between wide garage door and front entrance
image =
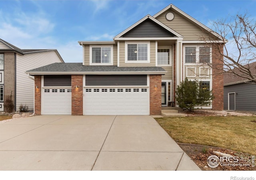
[(150, 115), (161, 115), (162, 75), (150, 75)]

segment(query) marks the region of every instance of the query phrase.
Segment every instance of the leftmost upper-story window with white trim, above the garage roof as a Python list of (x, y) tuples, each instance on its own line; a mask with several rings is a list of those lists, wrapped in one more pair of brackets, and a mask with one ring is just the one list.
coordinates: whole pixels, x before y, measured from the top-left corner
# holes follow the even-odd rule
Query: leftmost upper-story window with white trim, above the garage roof
[(113, 65), (113, 46), (90, 46), (90, 65)]

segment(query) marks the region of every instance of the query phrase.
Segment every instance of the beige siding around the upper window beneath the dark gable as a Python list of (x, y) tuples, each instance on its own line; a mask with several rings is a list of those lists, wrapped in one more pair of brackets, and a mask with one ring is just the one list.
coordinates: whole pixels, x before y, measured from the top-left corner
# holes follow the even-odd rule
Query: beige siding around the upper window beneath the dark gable
[[(134, 42), (134, 41), (133, 41)], [(141, 42), (141, 41), (140, 41)], [(156, 66), (156, 42), (150, 41), (150, 63), (125, 63), (125, 43), (119, 43), (119, 66), (120, 67), (134, 67), (134, 66)]]

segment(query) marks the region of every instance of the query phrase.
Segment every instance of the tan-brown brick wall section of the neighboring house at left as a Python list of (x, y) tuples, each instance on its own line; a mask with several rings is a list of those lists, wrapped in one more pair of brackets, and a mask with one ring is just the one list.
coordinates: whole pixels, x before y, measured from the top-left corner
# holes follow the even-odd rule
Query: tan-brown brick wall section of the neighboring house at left
[[(12, 94), (13, 104), (15, 100), (15, 57), (16, 53), (14, 52), (4, 53), (4, 100)], [(6, 111), (5, 106), (4, 111)]]

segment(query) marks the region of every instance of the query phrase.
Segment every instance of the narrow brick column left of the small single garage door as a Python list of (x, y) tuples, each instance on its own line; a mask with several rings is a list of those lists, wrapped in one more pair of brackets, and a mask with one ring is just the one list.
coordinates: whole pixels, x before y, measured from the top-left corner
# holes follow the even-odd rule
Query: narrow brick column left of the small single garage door
[[(36, 115), (41, 115), (41, 75), (35, 76), (35, 109)], [(36, 86), (38, 88), (36, 88)]]

